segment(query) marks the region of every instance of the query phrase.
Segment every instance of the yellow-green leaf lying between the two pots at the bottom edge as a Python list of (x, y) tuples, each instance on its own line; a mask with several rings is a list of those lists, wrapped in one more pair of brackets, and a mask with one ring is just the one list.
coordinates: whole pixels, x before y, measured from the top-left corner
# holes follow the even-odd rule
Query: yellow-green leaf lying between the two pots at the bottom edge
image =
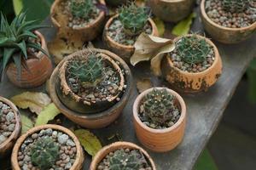
[(93, 133), (90, 133), (89, 130), (78, 129), (74, 133), (90, 156), (95, 156), (102, 149), (100, 140)]

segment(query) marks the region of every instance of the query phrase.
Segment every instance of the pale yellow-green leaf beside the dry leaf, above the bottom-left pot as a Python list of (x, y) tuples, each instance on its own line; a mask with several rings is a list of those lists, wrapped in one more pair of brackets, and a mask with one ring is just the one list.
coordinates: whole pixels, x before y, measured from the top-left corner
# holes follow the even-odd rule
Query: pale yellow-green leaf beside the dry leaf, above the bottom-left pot
[(54, 103), (45, 106), (44, 110), (39, 113), (35, 126), (47, 124), (60, 113), (61, 111), (58, 110)]

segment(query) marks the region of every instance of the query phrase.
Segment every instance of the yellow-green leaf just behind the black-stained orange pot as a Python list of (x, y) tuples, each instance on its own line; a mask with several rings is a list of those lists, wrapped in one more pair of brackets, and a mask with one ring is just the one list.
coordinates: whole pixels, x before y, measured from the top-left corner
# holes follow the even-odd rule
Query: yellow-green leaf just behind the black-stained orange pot
[(189, 17), (187, 17), (184, 20), (181, 20), (177, 23), (176, 26), (172, 29), (172, 34), (175, 36), (184, 36), (189, 33), (190, 26), (192, 24), (193, 19), (196, 17), (195, 13), (189, 14)]

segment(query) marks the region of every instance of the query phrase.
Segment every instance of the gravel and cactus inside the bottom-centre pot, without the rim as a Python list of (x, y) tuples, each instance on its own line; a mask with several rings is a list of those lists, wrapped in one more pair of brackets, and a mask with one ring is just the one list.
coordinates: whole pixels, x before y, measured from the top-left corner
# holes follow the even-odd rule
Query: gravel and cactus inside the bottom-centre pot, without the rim
[(97, 165), (96, 170), (110, 169), (152, 170), (147, 156), (141, 150), (119, 149), (108, 153)]

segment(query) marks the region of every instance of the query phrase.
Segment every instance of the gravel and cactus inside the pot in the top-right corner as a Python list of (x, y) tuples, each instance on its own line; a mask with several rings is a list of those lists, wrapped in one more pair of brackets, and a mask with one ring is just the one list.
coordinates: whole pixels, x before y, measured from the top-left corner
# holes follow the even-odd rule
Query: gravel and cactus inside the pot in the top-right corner
[(251, 26), (256, 21), (256, 3), (249, 0), (206, 0), (208, 17), (218, 24), (228, 28)]

